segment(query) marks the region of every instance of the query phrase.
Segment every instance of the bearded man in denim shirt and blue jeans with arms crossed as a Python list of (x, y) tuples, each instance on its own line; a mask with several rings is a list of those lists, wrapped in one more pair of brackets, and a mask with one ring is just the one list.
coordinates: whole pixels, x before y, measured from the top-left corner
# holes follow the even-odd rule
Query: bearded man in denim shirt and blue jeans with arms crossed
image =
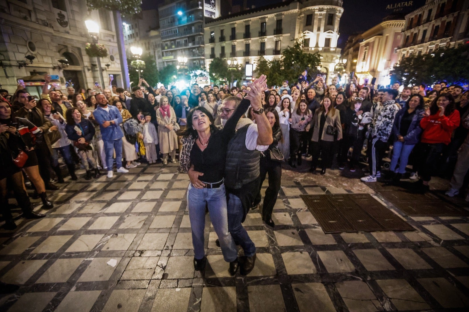
[(107, 105), (108, 101), (103, 93), (96, 96), (98, 107), (93, 111), (94, 119), (99, 124), (101, 136), (103, 137), (104, 150), (106, 153), (107, 177), (113, 177), (113, 151), (116, 152), (117, 172), (126, 173), (127, 169), (122, 167), (122, 116), (117, 107)]

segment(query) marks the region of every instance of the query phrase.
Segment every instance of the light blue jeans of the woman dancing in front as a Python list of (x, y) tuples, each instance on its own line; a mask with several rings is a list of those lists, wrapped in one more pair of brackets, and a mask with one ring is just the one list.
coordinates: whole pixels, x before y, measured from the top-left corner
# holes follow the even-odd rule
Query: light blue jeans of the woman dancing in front
[(202, 259), (204, 250), (205, 207), (208, 206), (210, 220), (220, 241), (223, 259), (227, 262), (236, 260), (238, 250), (233, 237), (228, 231), (227, 198), (225, 185), (217, 188), (195, 188), (189, 183), (187, 190), (190, 228), (194, 257)]

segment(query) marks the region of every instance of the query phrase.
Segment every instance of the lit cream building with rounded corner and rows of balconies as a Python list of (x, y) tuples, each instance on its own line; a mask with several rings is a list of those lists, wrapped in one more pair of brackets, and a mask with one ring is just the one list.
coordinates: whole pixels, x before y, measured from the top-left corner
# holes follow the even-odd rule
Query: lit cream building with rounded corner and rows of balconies
[(283, 49), (303, 37), (305, 52), (321, 53), (321, 70), (330, 82), (335, 59), (340, 57), (342, 13), (341, 0), (287, 0), (206, 21), (205, 66), (219, 57), (253, 64), (255, 70), (260, 56), (280, 58)]

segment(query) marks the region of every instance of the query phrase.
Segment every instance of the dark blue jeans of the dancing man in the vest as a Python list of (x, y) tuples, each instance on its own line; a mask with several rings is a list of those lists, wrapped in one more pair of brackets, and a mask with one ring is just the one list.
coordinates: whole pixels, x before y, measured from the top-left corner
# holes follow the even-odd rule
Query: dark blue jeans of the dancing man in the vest
[(251, 257), (256, 253), (256, 246), (241, 224), (244, 215), (244, 208), (238, 196), (228, 194), (228, 230), (234, 241), (241, 245), (244, 255)]

